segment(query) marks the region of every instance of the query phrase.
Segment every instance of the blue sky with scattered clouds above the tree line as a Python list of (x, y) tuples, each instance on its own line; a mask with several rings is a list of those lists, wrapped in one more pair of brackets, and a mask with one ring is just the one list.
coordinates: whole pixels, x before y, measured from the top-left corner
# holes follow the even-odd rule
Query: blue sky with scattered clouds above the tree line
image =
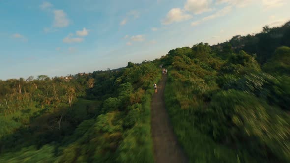
[(0, 79), (124, 67), (290, 20), (290, 0), (0, 0)]

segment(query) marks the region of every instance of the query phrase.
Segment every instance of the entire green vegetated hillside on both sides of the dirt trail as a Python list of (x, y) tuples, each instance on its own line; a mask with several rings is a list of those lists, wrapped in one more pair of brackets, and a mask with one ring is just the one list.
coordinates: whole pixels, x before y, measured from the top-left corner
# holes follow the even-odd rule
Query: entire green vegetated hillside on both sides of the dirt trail
[(288, 24), (264, 27), (116, 70), (0, 81), (0, 162), (154, 162), (150, 104), (163, 64), (190, 163), (289, 163), (289, 35)]

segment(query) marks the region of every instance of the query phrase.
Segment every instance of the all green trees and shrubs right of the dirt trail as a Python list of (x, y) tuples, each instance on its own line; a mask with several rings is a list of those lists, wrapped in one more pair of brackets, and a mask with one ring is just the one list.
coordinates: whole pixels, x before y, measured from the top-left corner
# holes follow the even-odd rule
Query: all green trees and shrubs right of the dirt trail
[(170, 67), (165, 101), (191, 162), (290, 162), (289, 32), (264, 27), (159, 60)]

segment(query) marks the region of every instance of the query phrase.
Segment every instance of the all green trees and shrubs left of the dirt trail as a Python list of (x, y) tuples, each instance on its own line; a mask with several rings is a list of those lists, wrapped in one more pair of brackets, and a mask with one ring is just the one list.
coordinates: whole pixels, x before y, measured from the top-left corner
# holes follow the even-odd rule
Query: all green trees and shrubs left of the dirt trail
[(1, 163), (153, 162), (145, 61), (119, 70), (0, 81)]

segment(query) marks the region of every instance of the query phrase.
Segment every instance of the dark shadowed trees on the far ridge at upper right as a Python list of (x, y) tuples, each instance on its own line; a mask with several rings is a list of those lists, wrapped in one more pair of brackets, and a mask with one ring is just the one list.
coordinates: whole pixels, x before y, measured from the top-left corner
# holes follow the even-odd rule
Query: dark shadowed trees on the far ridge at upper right
[(222, 53), (230, 45), (232, 46), (232, 51), (239, 52), (240, 50), (244, 50), (250, 55), (256, 55), (257, 61), (264, 64), (274, 55), (277, 47), (290, 47), (289, 24), (290, 22), (282, 27), (273, 28), (265, 26), (261, 33), (255, 35), (248, 34), (247, 36), (237, 35), (232, 37), (228, 42), (214, 45), (212, 48)]

